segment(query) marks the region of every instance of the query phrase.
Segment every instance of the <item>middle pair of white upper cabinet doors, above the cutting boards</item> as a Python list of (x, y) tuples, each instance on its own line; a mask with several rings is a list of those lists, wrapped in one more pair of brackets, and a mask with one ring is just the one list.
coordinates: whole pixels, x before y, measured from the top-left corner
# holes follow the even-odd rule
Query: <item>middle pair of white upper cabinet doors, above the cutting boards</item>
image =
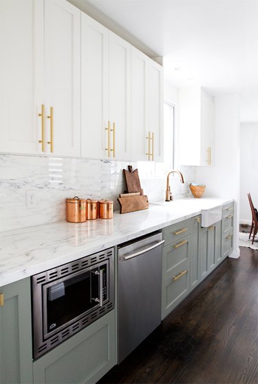
[(130, 159), (131, 46), (82, 13), (82, 156)]

